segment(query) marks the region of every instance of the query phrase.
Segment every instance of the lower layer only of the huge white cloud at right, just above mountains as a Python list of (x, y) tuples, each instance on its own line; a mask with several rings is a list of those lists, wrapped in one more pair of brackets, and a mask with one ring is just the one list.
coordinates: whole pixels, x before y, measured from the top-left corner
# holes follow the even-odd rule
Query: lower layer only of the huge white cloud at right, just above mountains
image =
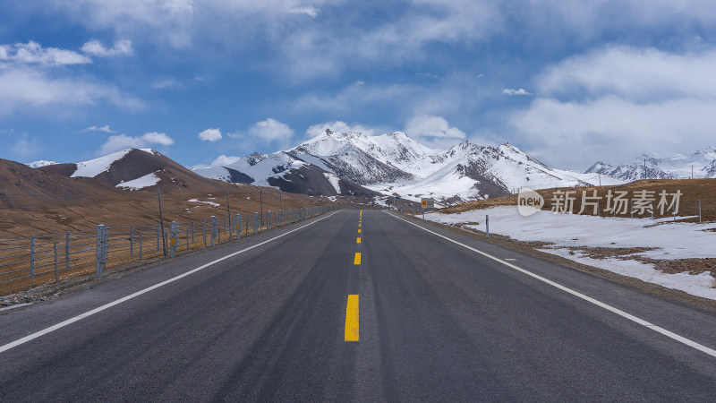
[[(636, 103), (617, 97), (586, 102), (537, 99), (511, 124), (545, 163), (585, 169), (597, 159), (623, 163), (648, 150), (694, 152), (713, 144), (716, 101)], [(687, 141), (685, 139), (688, 139)]]

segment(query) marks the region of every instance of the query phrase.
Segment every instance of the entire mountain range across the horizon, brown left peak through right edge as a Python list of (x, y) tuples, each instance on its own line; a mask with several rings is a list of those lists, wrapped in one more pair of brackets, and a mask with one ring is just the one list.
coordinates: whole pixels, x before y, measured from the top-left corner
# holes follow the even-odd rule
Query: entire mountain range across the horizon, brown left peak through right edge
[(623, 184), (644, 178), (716, 177), (716, 150), (657, 159), (641, 156), (617, 167), (597, 162), (580, 173), (548, 167), (516, 146), (497, 147), (463, 141), (447, 150), (431, 149), (402, 132), (372, 136), (324, 133), (298, 146), (271, 154), (218, 157), (209, 167), (188, 169), (149, 149), (122, 150), (98, 159), (57, 164), (26, 164), (58, 176), (91, 178), (107, 188), (171, 192), (216, 192), (216, 179), (228, 184), (271, 186), (311, 196), (353, 196), (386, 200), (432, 197), (455, 204), (516, 193), (519, 189)]

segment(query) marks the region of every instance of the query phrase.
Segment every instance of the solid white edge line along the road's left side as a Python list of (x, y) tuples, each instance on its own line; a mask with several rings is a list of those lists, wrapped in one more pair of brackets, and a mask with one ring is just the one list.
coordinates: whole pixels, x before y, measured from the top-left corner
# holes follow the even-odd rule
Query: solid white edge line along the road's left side
[(322, 220), (322, 219), (328, 219), (328, 217), (330, 217), (330, 216), (336, 214), (337, 212), (338, 212), (338, 211), (334, 211), (334, 212), (328, 214), (328, 216), (326, 216), (326, 217), (322, 217), (322, 218), (320, 218), (320, 219), (317, 219), (317, 220), (315, 220), (315, 221), (312, 221), (312, 222), (310, 222), (310, 223), (304, 225), (303, 227), (298, 227), (298, 228), (292, 229), (292, 230), (290, 230), (290, 231), (288, 231), (288, 232), (286, 232), (286, 233), (284, 233), (284, 234), (281, 234), (280, 236), (276, 236), (276, 237), (273, 237), (273, 238), (271, 238), (271, 239), (268, 239), (268, 240), (266, 240), (266, 241), (264, 241), (264, 242), (261, 242), (260, 244), (255, 244), (255, 245), (253, 245), (253, 246), (249, 246), (249, 247), (246, 248), (246, 249), (242, 249), (241, 251), (227, 254), (226, 256), (217, 259), (216, 261), (203, 264), (203, 265), (199, 266), (199, 267), (196, 268), (196, 269), (189, 270), (189, 271), (187, 271), (187, 272), (185, 272), (185, 273), (183, 273), (183, 274), (180, 274), (180, 275), (178, 275), (178, 276), (176, 276), (176, 277), (173, 277), (173, 278), (171, 278), (171, 279), (166, 279), (166, 280), (162, 281), (161, 283), (155, 284), (154, 286), (151, 286), (151, 287), (144, 288), (144, 289), (142, 289), (142, 290), (140, 290), (140, 291), (137, 291), (137, 292), (134, 293), (134, 294), (130, 294), (129, 296), (124, 296), (124, 297), (119, 298), (119, 299), (117, 299), (117, 300), (115, 300), (115, 301), (112, 301), (111, 303), (104, 304), (104, 305), (102, 305), (102, 306), (98, 306), (97, 308), (95, 308), (95, 309), (93, 309), (93, 310), (91, 310), (91, 311), (88, 311), (88, 312), (86, 312), (86, 313), (81, 313), (81, 314), (79, 314), (79, 315), (77, 315), (77, 316), (75, 316), (75, 317), (72, 317), (72, 318), (70, 318), (70, 319), (64, 321), (64, 322), (59, 322), (59, 323), (57, 323), (57, 324), (55, 324), (55, 325), (53, 325), (53, 326), (50, 326), (50, 327), (48, 327), (47, 329), (38, 330), (38, 331), (36, 331), (36, 332), (34, 332), (34, 333), (28, 335), (28, 336), (25, 336), (25, 337), (22, 338), (22, 339), (17, 339), (17, 340), (15, 340), (15, 341), (13, 341), (13, 342), (7, 343), (7, 344), (5, 344), (4, 346), (0, 347), (0, 353), (3, 353), (4, 351), (7, 351), (7, 350), (9, 350), (9, 349), (11, 349), (11, 348), (13, 348), (13, 347), (18, 347), (18, 346), (20, 346), (21, 344), (27, 343), (27, 342), (30, 341), (30, 340), (38, 339), (38, 337), (44, 336), (44, 335), (46, 335), (46, 334), (49, 333), (49, 332), (52, 332), (52, 331), (55, 331), (55, 330), (58, 330), (58, 329), (62, 329), (62, 328), (64, 328), (65, 326), (67, 326), (67, 325), (69, 325), (69, 324), (72, 324), (72, 323), (74, 323), (74, 322), (80, 321), (80, 320), (82, 320), (82, 319), (84, 319), (84, 318), (86, 318), (86, 317), (88, 317), (88, 316), (91, 316), (91, 315), (93, 315), (93, 314), (95, 314), (95, 313), (100, 313), (100, 312), (102, 312), (102, 311), (104, 311), (104, 310), (106, 310), (106, 309), (109, 309), (109, 308), (111, 308), (111, 307), (113, 307), (113, 306), (115, 306), (115, 305), (122, 304), (122, 303), (124, 303), (125, 301), (129, 301), (130, 299), (132, 299), (132, 298), (134, 298), (134, 297), (141, 296), (142, 294), (146, 294), (146, 293), (148, 293), (148, 292), (151, 291), (151, 290), (157, 289), (158, 287), (163, 287), (163, 286), (166, 286), (166, 285), (169, 284), (169, 283), (175, 282), (175, 281), (178, 280), (178, 279), (183, 279), (184, 277), (189, 276), (189, 275), (192, 275), (193, 273), (196, 273), (196, 272), (199, 271), (199, 270), (204, 270), (204, 269), (208, 268), (208, 267), (211, 266), (211, 265), (214, 265), (214, 264), (216, 264), (216, 263), (218, 263), (218, 262), (222, 262), (222, 261), (225, 261), (226, 259), (232, 258), (232, 257), (236, 256), (237, 254), (250, 251), (251, 249), (257, 248), (257, 247), (261, 246), (262, 244), (268, 244), (269, 242), (275, 241), (275, 240), (277, 240), (278, 238), (280, 238), (280, 237), (282, 237), (282, 236), (287, 236), (288, 234), (291, 234), (292, 232), (298, 231), (299, 229), (303, 229), (303, 228), (305, 228), (305, 227), (311, 226), (311, 225), (313, 225), (313, 224), (319, 222), (319, 221)]

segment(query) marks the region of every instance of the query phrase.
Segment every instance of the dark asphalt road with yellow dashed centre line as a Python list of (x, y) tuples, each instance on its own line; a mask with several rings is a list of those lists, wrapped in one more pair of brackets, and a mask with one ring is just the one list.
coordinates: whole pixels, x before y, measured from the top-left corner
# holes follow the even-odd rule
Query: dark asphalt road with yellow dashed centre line
[(712, 313), (456, 231), (418, 223), (503, 262), (403, 217), (359, 214), (0, 314), (0, 346), (75, 320), (0, 347), (0, 401), (716, 397), (716, 357), (503, 262), (714, 348)]

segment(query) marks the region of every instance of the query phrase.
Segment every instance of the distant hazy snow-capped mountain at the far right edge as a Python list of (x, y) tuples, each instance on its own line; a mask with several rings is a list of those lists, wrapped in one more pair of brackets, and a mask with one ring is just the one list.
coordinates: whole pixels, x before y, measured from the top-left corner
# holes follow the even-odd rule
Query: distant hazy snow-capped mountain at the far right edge
[(643, 154), (630, 164), (613, 167), (601, 161), (586, 170), (586, 173), (600, 173), (623, 181), (638, 179), (687, 179), (716, 177), (716, 149), (707, 147), (691, 155), (677, 154), (659, 159)]

